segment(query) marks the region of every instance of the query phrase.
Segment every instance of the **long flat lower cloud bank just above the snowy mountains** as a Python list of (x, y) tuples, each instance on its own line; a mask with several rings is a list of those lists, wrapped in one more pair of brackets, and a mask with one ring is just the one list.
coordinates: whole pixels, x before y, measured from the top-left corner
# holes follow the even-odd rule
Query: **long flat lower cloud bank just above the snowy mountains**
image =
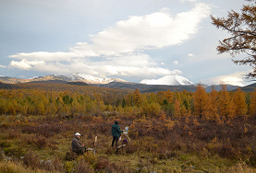
[[(71, 73), (85, 73), (88, 75), (97, 75), (106, 77), (111, 75), (119, 76), (162, 76), (181, 74), (179, 70), (169, 70), (158, 67), (157, 63), (147, 60), (148, 55), (136, 57), (115, 57), (109, 58), (103, 62), (91, 62), (84, 59), (75, 59), (74, 61), (63, 64), (58, 62), (34, 62), (22, 60), (20, 62), (12, 61), (11, 65), (25, 70), (34, 70), (41, 72), (55, 73), (65, 75)], [(121, 60), (119, 60), (121, 59)], [(123, 61), (123, 59), (125, 59)]]

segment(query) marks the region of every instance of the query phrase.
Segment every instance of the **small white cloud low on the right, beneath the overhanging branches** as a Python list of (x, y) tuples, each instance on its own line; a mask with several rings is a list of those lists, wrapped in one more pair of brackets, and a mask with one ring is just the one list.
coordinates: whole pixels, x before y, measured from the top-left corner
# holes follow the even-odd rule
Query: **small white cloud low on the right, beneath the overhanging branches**
[(232, 86), (244, 87), (245, 85), (242, 83), (243, 77), (244, 77), (243, 74), (244, 73), (235, 73), (231, 75), (219, 75), (216, 77), (202, 80), (201, 82), (208, 85), (213, 85), (213, 84), (218, 85), (218, 84), (224, 83)]

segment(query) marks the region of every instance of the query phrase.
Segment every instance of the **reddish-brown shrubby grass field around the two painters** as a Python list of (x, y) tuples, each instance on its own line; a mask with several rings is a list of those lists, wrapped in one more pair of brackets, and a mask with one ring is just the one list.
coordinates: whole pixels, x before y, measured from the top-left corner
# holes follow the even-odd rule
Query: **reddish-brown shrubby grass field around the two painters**
[[(111, 125), (129, 127), (131, 139), (116, 152)], [(82, 116), (71, 120), (0, 116), (0, 172), (255, 172), (255, 120), (229, 124), (183, 118)], [(95, 147), (67, 159), (74, 133)], [(93, 145), (95, 136), (98, 141)], [(121, 144), (121, 142), (119, 143)]]

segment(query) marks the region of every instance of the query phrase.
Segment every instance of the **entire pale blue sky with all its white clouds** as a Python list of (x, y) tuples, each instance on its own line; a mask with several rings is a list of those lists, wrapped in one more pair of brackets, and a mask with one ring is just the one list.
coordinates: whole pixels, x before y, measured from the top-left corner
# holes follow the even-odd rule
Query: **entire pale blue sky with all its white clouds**
[[(213, 17), (244, 0), (0, 0), (0, 75), (75, 73), (130, 82), (181, 75), (247, 86), (250, 66), (218, 54)], [(240, 54), (236, 58), (242, 58)], [(255, 82), (255, 81), (254, 81)]]

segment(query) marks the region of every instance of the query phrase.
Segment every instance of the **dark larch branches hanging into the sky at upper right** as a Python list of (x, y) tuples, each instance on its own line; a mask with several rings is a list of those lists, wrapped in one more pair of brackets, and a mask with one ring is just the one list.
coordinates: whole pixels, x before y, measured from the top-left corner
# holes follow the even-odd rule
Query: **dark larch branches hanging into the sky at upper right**
[[(212, 17), (212, 24), (217, 29), (226, 30), (230, 37), (219, 42), (217, 52), (228, 52), (234, 63), (250, 65), (252, 72), (247, 79), (256, 78), (256, 0), (246, 0), (249, 5), (241, 8), (241, 13), (234, 10), (228, 12), (227, 17)], [(235, 56), (244, 54), (244, 58), (236, 60)]]

